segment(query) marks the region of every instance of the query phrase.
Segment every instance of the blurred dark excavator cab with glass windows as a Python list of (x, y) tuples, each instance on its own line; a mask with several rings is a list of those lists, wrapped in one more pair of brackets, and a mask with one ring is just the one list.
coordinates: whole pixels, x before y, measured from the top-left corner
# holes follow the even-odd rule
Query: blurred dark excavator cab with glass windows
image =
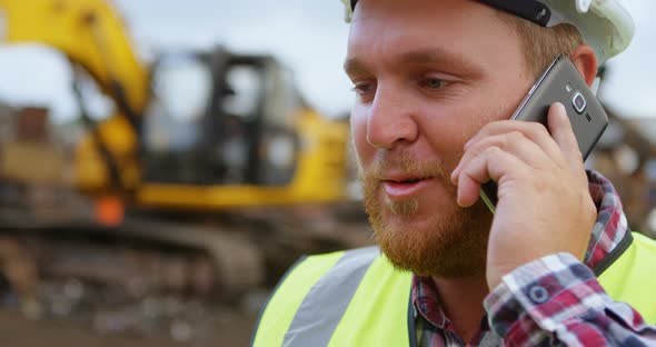
[(294, 178), (304, 102), (269, 56), (163, 53), (143, 118), (143, 181), (284, 186)]

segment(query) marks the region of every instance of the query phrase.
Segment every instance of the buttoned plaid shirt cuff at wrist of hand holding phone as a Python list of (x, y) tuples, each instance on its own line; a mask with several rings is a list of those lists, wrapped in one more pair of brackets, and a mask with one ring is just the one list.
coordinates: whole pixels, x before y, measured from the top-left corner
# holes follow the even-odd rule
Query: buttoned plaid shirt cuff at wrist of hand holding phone
[(605, 307), (607, 300), (593, 271), (573, 255), (559, 252), (504, 276), (484, 306), (490, 328), (500, 337), (518, 333), (537, 338), (567, 319)]

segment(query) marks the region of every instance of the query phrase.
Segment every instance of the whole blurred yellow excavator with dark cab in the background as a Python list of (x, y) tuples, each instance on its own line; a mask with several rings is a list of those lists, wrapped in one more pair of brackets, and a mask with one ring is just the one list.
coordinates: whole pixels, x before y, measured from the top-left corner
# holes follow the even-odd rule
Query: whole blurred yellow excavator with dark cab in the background
[[(112, 237), (182, 245), (185, 254), (199, 248), (222, 285), (240, 290), (264, 276), (252, 241), (236, 246), (220, 232), (196, 232), (189, 222), (171, 228), (158, 218), (346, 199), (348, 125), (308, 107), (272, 57), (218, 47), (162, 53), (146, 65), (105, 0), (0, 0), (0, 12), (6, 42), (62, 52), (113, 100), (116, 113), (102, 121), (80, 102), (87, 131), (76, 149), (74, 184), (92, 197), (118, 197), (128, 216), (157, 217), (131, 225), (126, 218)], [(202, 221), (203, 230), (221, 228)], [(261, 244), (289, 238), (257, 231)]]

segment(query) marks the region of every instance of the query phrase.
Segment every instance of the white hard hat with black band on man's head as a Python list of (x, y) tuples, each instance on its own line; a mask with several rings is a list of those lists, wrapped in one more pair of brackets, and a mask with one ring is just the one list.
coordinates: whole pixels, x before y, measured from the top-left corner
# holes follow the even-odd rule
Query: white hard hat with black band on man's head
[[(437, 0), (436, 0), (437, 1)], [(543, 27), (569, 23), (578, 29), (597, 54), (598, 65), (623, 52), (635, 23), (619, 0), (477, 0)], [(350, 22), (358, 0), (341, 0)]]

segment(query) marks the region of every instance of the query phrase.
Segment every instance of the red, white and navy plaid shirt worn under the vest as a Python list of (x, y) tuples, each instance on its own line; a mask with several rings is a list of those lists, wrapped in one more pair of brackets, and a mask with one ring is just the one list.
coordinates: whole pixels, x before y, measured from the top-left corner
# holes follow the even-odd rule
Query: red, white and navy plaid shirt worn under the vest
[(613, 185), (594, 171), (588, 180), (598, 217), (585, 265), (563, 252), (506, 275), (485, 299), (487, 316), (467, 344), (441, 310), (433, 280), (415, 276), (419, 346), (656, 346), (656, 328), (627, 304), (614, 301), (590, 270), (629, 230)]

